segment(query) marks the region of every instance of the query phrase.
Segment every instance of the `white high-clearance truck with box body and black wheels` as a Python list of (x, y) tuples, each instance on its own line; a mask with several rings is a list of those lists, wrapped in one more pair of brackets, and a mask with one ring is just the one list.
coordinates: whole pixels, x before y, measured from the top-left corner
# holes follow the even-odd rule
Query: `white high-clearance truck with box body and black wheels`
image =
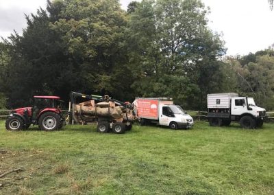
[(242, 128), (262, 127), (266, 110), (256, 106), (253, 98), (239, 97), (237, 93), (208, 94), (208, 121), (210, 126), (229, 126), (240, 122)]

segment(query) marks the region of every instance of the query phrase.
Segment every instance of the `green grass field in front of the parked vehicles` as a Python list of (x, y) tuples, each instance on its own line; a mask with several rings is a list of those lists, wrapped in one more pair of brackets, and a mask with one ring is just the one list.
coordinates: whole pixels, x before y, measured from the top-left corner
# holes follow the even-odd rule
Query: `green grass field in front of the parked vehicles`
[(0, 194), (274, 194), (274, 124), (191, 130), (95, 126), (7, 132), (0, 122)]

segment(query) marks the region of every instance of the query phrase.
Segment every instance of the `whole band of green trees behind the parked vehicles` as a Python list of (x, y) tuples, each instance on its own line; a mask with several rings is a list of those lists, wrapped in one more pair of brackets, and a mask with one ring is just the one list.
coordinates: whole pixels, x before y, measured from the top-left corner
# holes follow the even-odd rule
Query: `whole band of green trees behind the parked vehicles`
[(208, 93), (253, 95), (244, 78), (274, 108), (273, 49), (223, 60), (208, 12), (199, 0), (132, 1), (127, 12), (119, 0), (47, 1), (26, 16), (22, 35), (0, 43), (0, 102), (14, 108), (32, 95), (68, 100), (78, 91), (122, 101), (165, 96), (200, 110)]

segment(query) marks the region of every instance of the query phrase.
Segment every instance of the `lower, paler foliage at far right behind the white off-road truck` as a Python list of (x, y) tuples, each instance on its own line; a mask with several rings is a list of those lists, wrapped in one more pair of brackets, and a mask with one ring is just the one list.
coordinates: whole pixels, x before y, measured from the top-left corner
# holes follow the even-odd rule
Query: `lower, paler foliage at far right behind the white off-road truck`
[(273, 52), (269, 48), (238, 59), (227, 58), (230, 71), (236, 73), (237, 92), (255, 98), (257, 104), (268, 110), (274, 108)]

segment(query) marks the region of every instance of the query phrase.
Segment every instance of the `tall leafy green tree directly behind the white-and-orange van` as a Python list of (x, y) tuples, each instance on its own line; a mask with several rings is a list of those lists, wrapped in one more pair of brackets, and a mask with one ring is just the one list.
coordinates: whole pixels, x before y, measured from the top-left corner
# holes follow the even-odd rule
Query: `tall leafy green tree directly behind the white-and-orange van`
[(194, 0), (144, 0), (138, 5), (128, 32), (138, 95), (166, 95), (198, 105), (201, 67), (225, 52), (219, 35), (208, 29), (207, 13)]

